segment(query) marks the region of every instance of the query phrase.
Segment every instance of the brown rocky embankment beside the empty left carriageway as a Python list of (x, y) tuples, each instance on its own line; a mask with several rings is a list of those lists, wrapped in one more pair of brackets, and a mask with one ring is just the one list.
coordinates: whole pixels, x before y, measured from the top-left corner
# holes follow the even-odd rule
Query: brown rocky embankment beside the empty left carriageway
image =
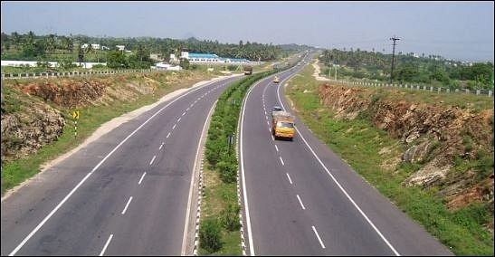
[(2, 164), (28, 157), (62, 135), (74, 108), (133, 101), (207, 79), (188, 72), (2, 81)]

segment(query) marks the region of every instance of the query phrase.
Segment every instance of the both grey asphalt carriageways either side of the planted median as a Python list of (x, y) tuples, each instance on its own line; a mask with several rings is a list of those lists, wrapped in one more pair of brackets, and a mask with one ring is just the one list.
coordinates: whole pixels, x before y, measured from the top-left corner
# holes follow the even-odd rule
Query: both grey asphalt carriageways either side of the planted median
[[(285, 82), (255, 83), (239, 127), (249, 255), (452, 255), (296, 119), (271, 136), (271, 107), (293, 113)], [(202, 129), (231, 77), (123, 123), (2, 201), (2, 255), (190, 255)], [(193, 201), (194, 202), (194, 201)], [(194, 235), (193, 235), (194, 237)]]

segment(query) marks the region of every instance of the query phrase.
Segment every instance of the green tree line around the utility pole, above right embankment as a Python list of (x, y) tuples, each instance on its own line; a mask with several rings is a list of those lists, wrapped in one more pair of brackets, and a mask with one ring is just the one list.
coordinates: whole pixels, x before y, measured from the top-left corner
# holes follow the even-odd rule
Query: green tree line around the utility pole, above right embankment
[[(350, 51), (332, 49), (325, 50), (319, 57), (328, 74), (334, 65), (346, 67), (340, 75), (372, 81), (430, 84), (450, 88), (466, 88), (471, 90), (493, 89), (492, 62), (460, 62), (443, 58), (440, 55), (415, 55), (414, 52), (395, 56), (395, 67), (392, 71), (392, 54), (361, 51), (359, 48)], [(391, 72), (392, 75), (391, 75)]]

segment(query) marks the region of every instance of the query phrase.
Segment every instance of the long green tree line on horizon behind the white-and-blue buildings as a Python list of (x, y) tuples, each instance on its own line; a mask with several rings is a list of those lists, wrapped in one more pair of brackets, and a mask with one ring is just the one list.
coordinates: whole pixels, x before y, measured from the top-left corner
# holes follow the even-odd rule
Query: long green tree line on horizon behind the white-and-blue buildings
[[(243, 58), (256, 62), (270, 62), (289, 53), (281, 46), (241, 40), (239, 43), (199, 41), (195, 38), (176, 40), (171, 38), (114, 38), (86, 35), (36, 35), (29, 33), (1, 33), (2, 60), (61, 62), (106, 62), (109, 68), (149, 68), (156, 61), (150, 58), (155, 53), (161, 61), (170, 61), (170, 54), (180, 56), (183, 51), (214, 53), (225, 58)], [(95, 44), (99, 48), (92, 47)], [(119, 51), (123, 45), (127, 51)], [(85, 46), (85, 47), (83, 47)], [(102, 49), (105, 46), (107, 48)]]

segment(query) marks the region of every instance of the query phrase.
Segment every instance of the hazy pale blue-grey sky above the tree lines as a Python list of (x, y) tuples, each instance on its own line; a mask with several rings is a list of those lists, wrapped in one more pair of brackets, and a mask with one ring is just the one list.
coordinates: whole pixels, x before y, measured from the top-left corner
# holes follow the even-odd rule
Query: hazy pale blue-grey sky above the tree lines
[(297, 43), (493, 63), (494, 1), (1, 1), (2, 33)]

